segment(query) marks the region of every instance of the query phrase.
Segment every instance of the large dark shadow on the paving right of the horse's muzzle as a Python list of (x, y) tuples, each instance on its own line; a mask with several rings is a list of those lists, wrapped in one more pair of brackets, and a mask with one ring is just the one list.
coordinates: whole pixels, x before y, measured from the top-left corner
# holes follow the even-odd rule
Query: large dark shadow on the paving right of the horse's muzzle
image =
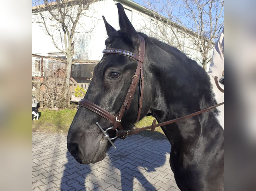
[[(156, 174), (152, 174), (152, 172), (165, 163), (166, 153), (170, 152), (170, 147), (156, 148), (154, 141), (161, 140), (152, 140), (145, 136), (138, 137), (143, 140), (136, 139), (135, 142), (129, 144), (123, 144), (122, 140), (118, 141), (121, 148), (119, 150), (112, 148), (109, 151), (111, 164), (121, 171), (122, 191), (132, 191), (135, 182), (142, 185), (145, 190), (156, 191), (157, 189), (151, 183), (158, 180), (153, 180)], [(118, 147), (118, 145), (116, 146)], [(144, 174), (150, 175), (146, 178)]]

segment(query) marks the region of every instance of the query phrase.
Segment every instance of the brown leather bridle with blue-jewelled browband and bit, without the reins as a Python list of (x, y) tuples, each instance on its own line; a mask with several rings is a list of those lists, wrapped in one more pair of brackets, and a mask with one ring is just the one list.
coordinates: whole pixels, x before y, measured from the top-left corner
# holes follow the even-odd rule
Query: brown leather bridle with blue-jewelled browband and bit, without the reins
[[(132, 77), (130, 87), (127, 91), (127, 94), (126, 94), (126, 97), (124, 99), (123, 105), (121, 106), (119, 112), (116, 115), (112, 115), (110, 112), (106, 111), (102, 107), (100, 107), (100, 106), (98, 106), (98, 105), (96, 105), (96, 104), (94, 104), (91, 101), (88, 101), (86, 99), (81, 99), (78, 102), (78, 106), (77, 106), (78, 109), (81, 106), (85, 107), (85, 108), (97, 113), (101, 117), (107, 119), (110, 123), (112, 123), (113, 126), (108, 128), (107, 130), (109, 130), (109, 129), (116, 130), (117, 128), (119, 130), (123, 130), (123, 127), (121, 125), (122, 117), (124, 115), (124, 111), (129, 109), (129, 107), (130, 107), (131, 100), (132, 100), (134, 92), (136, 90), (138, 81), (139, 81), (139, 101), (138, 101), (137, 121), (140, 118), (140, 112), (141, 112), (141, 108), (142, 108), (142, 99), (143, 99), (143, 90), (144, 90), (144, 76), (143, 76), (142, 65), (143, 65), (143, 62), (144, 62), (144, 55), (145, 55), (145, 41), (144, 41), (144, 38), (140, 35), (139, 35), (139, 38), (140, 38), (139, 55), (134, 54), (134, 53), (129, 52), (129, 51), (126, 51), (126, 50), (122, 50), (122, 49), (109, 49), (108, 48), (108, 49), (103, 50), (103, 55), (109, 55), (109, 54), (122, 55), (122, 56), (127, 56), (129, 58), (132, 58), (132, 59), (135, 59), (136, 61), (138, 61), (138, 65), (137, 65), (135, 74)], [(97, 122), (97, 125), (99, 126), (98, 122)], [(106, 131), (104, 131), (104, 132), (106, 133)], [(126, 135), (123, 135), (120, 138), (125, 138), (125, 137), (126, 137)], [(108, 139), (108, 140), (111, 142), (112, 139)], [(111, 144), (113, 144), (113, 143), (111, 142)]]

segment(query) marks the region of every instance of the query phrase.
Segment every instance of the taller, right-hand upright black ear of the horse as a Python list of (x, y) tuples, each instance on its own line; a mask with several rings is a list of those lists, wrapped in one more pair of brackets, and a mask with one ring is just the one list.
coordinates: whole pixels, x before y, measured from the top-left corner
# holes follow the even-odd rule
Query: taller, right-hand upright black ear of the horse
[(125, 32), (128, 35), (134, 45), (138, 44), (140, 42), (139, 34), (136, 32), (136, 30), (132, 26), (132, 23), (125, 14), (123, 5), (121, 5), (120, 3), (117, 3), (116, 5), (118, 9), (119, 26), (121, 31)]

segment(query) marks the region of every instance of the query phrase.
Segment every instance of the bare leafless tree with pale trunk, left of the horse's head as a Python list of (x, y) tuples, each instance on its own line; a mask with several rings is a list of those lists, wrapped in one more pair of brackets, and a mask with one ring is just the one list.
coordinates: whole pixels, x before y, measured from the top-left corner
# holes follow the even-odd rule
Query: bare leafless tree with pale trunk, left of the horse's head
[(94, 12), (89, 10), (93, 2), (95, 0), (34, 0), (32, 3), (33, 22), (38, 23), (49, 35), (56, 49), (66, 54), (66, 74), (62, 88), (67, 105), (72, 61), (75, 45), (79, 41), (78, 33), (88, 33), (94, 28), (91, 25), (81, 25), (79, 20), (82, 16), (93, 17)]

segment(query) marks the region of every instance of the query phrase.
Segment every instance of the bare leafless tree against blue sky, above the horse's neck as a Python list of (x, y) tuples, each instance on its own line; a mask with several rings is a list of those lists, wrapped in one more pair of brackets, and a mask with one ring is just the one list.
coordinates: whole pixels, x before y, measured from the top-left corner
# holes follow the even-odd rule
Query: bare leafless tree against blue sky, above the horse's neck
[(201, 55), (197, 60), (206, 69), (214, 42), (224, 27), (224, 0), (146, 0), (145, 3), (155, 11), (151, 34), (183, 52), (184, 48), (194, 47)]

